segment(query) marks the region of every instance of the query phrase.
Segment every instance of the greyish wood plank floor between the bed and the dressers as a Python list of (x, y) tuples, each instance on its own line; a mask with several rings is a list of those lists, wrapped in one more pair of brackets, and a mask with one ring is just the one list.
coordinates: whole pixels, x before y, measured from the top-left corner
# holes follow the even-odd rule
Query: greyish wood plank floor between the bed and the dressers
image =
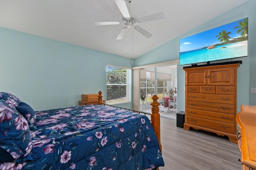
[(160, 170), (241, 170), (238, 145), (228, 137), (176, 127), (176, 121), (161, 117), (162, 156)]

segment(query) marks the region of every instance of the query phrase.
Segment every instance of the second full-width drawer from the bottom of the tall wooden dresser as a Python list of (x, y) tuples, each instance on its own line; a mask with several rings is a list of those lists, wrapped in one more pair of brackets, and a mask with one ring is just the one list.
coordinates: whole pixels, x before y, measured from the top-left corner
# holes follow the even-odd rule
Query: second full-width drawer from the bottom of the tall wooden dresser
[(218, 113), (214, 111), (205, 111), (205, 110), (191, 109), (191, 108), (186, 108), (186, 115), (215, 120), (215, 121), (222, 121), (226, 123), (234, 123), (234, 118), (235, 118), (234, 114)]

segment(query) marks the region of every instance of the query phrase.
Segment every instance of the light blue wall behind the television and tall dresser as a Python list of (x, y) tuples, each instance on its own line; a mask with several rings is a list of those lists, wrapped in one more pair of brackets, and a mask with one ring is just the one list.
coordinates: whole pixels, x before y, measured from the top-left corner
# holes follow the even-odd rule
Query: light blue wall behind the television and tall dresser
[[(142, 55), (135, 59), (135, 66), (146, 64), (161, 63), (179, 59), (179, 40), (194, 35), (209, 29), (225, 25), (243, 18), (248, 17), (249, 25), (249, 40), (248, 40), (248, 57), (242, 57), (235, 60), (242, 60), (241, 66), (238, 68), (237, 82), (237, 111), (240, 111), (240, 105), (250, 104), (256, 105), (256, 94), (250, 94), (250, 88), (256, 88), (256, 1), (249, 0), (248, 2), (234, 8), (225, 14), (222, 14), (213, 20), (196, 27), (195, 29), (169, 41), (168, 43)], [(183, 66), (178, 66), (178, 111), (185, 110), (185, 72)]]

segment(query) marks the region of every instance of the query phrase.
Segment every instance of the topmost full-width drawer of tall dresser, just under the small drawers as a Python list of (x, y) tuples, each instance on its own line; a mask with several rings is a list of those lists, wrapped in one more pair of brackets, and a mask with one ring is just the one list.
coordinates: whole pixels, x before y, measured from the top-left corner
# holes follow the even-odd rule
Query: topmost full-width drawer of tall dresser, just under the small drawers
[(234, 104), (234, 95), (231, 94), (203, 94), (203, 93), (186, 93), (187, 100), (204, 101), (223, 104)]

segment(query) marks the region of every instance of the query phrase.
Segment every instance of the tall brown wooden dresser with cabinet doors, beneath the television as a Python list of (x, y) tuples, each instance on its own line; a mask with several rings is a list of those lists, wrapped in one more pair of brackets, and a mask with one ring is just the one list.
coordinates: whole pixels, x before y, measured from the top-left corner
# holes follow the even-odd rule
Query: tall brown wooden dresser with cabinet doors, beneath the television
[(183, 68), (186, 72), (184, 129), (202, 129), (236, 139), (236, 71), (240, 64)]

